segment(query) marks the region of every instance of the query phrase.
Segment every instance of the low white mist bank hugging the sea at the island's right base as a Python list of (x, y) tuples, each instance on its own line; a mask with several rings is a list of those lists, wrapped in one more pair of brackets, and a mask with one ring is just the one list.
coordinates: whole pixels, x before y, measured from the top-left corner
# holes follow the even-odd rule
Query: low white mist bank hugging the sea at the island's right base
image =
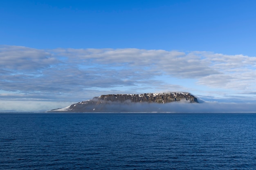
[[(95, 109), (95, 110), (94, 110)], [(91, 112), (97, 112), (97, 107), (91, 107)], [(112, 102), (99, 108), (100, 112), (131, 112), (131, 113), (256, 113), (254, 103), (189, 103), (188, 101), (157, 103), (126, 103)]]

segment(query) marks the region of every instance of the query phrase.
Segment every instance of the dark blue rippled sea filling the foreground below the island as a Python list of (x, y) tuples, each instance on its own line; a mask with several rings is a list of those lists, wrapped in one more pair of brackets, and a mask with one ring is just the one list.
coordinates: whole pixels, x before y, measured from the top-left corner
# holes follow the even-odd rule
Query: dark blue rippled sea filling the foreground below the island
[(256, 114), (2, 113), (1, 170), (254, 170)]

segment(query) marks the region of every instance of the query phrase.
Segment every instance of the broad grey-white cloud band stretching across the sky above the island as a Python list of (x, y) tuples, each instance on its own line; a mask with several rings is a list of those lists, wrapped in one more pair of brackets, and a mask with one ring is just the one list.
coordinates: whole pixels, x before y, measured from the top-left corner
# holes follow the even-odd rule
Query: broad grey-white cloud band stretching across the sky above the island
[(79, 102), (102, 94), (187, 91), (202, 99), (255, 101), (255, 77), (256, 57), (240, 54), (0, 46), (0, 100)]

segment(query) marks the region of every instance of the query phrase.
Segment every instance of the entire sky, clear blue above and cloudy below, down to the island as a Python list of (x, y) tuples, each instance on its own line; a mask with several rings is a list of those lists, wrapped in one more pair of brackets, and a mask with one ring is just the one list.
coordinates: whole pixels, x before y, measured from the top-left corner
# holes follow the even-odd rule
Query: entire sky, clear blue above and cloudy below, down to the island
[(255, 6), (253, 0), (1, 2), (0, 110), (171, 91), (255, 103)]

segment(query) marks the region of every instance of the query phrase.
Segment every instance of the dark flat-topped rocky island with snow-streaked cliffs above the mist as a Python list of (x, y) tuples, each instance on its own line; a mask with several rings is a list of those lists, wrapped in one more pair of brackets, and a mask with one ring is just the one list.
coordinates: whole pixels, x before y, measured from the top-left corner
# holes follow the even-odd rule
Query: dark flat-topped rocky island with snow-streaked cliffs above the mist
[[(72, 104), (66, 108), (51, 110), (51, 112), (152, 112), (156, 109), (151, 107), (154, 104), (157, 104), (159, 110), (159, 104), (178, 101), (198, 103), (197, 98), (190, 93), (115, 94), (101, 95), (91, 100)], [(153, 105), (144, 107), (145, 104)], [(137, 110), (132, 110), (133, 108)]]

